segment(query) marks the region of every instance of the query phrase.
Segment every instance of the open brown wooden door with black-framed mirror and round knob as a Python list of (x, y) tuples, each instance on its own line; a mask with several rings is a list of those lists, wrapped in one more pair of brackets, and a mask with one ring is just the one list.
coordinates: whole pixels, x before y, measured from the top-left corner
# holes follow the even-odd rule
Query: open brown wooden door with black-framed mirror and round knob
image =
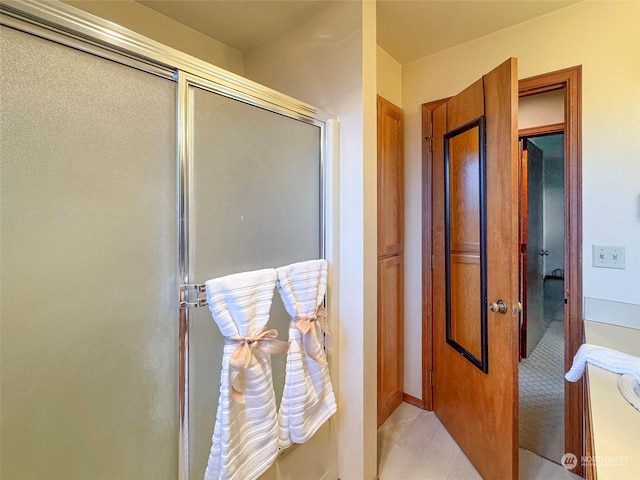
[(484, 478), (518, 474), (517, 102), (512, 58), (433, 112), (434, 411)]

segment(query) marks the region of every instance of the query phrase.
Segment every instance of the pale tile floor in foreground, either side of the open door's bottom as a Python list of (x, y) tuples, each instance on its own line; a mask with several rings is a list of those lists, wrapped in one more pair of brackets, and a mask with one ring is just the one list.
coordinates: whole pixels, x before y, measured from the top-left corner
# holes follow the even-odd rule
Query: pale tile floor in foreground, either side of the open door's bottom
[[(378, 472), (381, 480), (481, 479), (433, 412), (407, 403), (401, 404), (378, 429)], [(520, 479), (580, 480), (580, 477), (520, 449)]]

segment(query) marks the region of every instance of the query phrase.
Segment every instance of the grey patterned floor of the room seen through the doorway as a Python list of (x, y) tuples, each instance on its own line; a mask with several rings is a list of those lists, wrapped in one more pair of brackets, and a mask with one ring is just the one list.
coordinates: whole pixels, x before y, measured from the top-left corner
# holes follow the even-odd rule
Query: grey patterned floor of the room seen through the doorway
[(520, 447), (555, 463), (564, 454), (564, 324), (557, 287), (545, 285), (551, 290), (545, 291), (546, 330), (519, 371)]

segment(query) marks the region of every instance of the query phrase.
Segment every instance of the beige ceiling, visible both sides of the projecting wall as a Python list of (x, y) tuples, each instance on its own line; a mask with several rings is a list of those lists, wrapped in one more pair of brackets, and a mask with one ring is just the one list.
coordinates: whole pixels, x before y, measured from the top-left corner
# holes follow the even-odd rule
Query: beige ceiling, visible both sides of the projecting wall
[[(244, 53), (330, 1), (138, 0)], [(577, 1), (378, 0), (378, 45), (405, 64)]]

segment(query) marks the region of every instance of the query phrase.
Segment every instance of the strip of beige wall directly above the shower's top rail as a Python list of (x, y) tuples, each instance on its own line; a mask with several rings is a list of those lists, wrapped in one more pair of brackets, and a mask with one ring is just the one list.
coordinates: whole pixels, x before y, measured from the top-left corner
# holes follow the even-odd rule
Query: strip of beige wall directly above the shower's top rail
[(157, 42), (242, 75), (243, 54), (133, 0), (63, 0)]

